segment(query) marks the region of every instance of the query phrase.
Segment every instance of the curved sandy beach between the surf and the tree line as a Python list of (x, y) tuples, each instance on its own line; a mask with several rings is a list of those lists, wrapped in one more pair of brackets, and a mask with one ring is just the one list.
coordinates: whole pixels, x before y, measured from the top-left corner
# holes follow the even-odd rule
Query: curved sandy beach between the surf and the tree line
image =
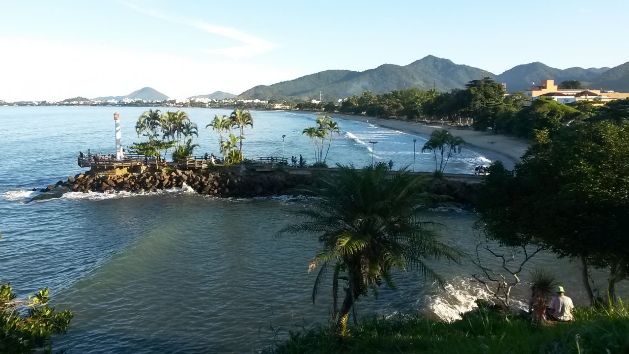
[[(407, 134), (423, 135), (424, 137), (428, 137), (428, 135), (430, 135), (435, 129), (446, 128), (450, 130), (452, 134), (465, 140), (466, 144), (464, 149), (467, 148), (472, 151), (479, 152), (492, 161), (500, 160), (503, 162), (504, 166), (509, 169), (513, 169), (515, 164), (520, 162), (520, 157), (528, 148), (528, 141), (526, 139), (508, 137), (506, 135), (494, 134), (492, 132), (476, 132), (471, 128), (457, 129), (456, 127), (442, 125), (441, 123), (433, 122), (425, 125), (424, 122), (404, 122), (402, 120), (380, 119), (363, 115), (355, 116), (334, 114), (332, 116), (346, 120), (379, 125), (384, 128), (398, 130)], [(418, 146), (418, 149), (421, 149), (421, 146)]]

